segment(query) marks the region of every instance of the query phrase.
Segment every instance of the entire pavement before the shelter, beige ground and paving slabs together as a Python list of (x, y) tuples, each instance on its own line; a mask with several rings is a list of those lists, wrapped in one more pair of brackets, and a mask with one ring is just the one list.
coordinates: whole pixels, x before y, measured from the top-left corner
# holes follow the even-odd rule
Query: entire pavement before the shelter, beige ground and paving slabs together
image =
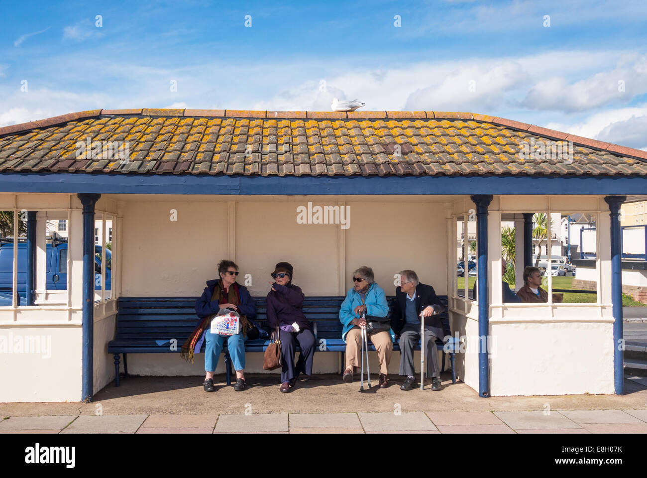
[(0, 404), (0, 433), (647, 433), (647, 378), (633, 376), (622, 396), (490, 398), (446, 374), (437, 392), (393, 380), (360, 393), (323, 375), (281, 394), (259, 374), (236, 393), (216, 380), (214, 393), (201, 377), (129, 377), (89, 404)]

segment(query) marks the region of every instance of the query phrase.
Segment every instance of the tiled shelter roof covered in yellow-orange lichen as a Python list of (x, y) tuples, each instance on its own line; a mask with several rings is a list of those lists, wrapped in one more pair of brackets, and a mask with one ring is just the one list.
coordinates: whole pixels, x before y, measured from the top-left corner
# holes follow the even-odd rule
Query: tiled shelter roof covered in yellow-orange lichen
[[(78, 159), (77, 142), (89, 137), (127, 142), (129, 159)], [(543, 157), (521, 154), (523, 144), (554, 139), (573, 141), (573, 164), (548, 147)], [(23, 172), (635, 176), (647, 174), (645, 159), (616, 144), (444, 111), (105, 109), (0, 128), (0, 170)]]

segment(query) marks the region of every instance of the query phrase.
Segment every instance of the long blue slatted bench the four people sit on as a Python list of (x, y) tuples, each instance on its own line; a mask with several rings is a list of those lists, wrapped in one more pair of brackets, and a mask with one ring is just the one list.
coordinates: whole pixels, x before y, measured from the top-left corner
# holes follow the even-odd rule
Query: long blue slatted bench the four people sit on
[[(108, 353), (115, 357), (115, 386), (119, 386), (120, 354), (124, 356), (124, 375), (128, 376), (127, 354), (161, 354), (179, 352), (186, 338), (197, 326), (195, 316), (195, 297), (120, 297), (116, 323), (115, 339), (108, 343)], [(254, 297), (256, 302), (256, 321), (265, 326), (267, 322), (267, 304), (265, 297)], [(439, 295), (445, 305), (447, 297)], [(317, 353), (345, 352), (342, 340), (342, 324), (339, 321), (339, 310), (344, 297), (306, 297), (303, 301), (303, 313), (313, 323), (313, 332), (317, 343)], [(395, 297), (387, 297), (389, 308)], [(445, 336), (451, 336), (448, 314), (441, 314)], [(264, 352), (269, 340), (256, 339), (245, 342), (247, 352)], [(437, 349), (443, 350), (444, 343), (436, 341)], [(298, 348), (298, 345), (297, 345)], [(445, 350), (450, 354), (452, 365), (452, 383), (456, 381), (455, 351), (457, 344), (452, 337)], [(369, 343), (369, 350), (375, 350)], [(393, 343), (393, 350), (399, 350)], [(417, 345), (416, 350), (420, 350)], [(227, 385), (231, 383), (232, 364), (225, 351)], [(204, 343), (201, 350), (204, 352)], [(342, 367), (344, 364), (342, 356)], [(445, 354), (443, 354), (444, 370)]]

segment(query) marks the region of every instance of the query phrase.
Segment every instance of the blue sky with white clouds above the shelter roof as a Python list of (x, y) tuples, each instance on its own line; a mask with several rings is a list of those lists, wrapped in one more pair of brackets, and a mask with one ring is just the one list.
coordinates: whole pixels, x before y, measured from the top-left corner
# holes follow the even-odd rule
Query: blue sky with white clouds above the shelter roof
[(646, 1), (1, 8), (0, 126), (98, 108), (329, 110), (336, 96), (365, 109), (499, 115), (647, 150)]

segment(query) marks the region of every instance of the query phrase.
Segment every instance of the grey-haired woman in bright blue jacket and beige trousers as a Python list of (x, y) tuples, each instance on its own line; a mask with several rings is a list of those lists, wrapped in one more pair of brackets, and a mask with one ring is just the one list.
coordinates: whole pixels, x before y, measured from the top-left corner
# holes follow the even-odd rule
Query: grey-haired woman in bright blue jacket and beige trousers
[[(375, 275), (371, 267), (362, 266), (353, 272), (353, 288), (346, 294), (342, 308), (339, 311), (339, 320), (344, 325), (342, 339), (346, 343), (346, 367), (344, 381), (353, 381), (353, 372), (359, 369), (362, 350), (361, 328), (366, 326), (366, 320), (362, 319), (362, 312), (365, 315), (374, 317), (386, 317), (389, 313), (389, 305), (386, 302), (384, 290), (375, 283)], [(380, 361), (380, 389), (387, 387), (387, 373), (391, 352), (393, 352), (393, 341), (390, 330), (373, 332), (368, 339), (375, 345), (377, 357)]]

